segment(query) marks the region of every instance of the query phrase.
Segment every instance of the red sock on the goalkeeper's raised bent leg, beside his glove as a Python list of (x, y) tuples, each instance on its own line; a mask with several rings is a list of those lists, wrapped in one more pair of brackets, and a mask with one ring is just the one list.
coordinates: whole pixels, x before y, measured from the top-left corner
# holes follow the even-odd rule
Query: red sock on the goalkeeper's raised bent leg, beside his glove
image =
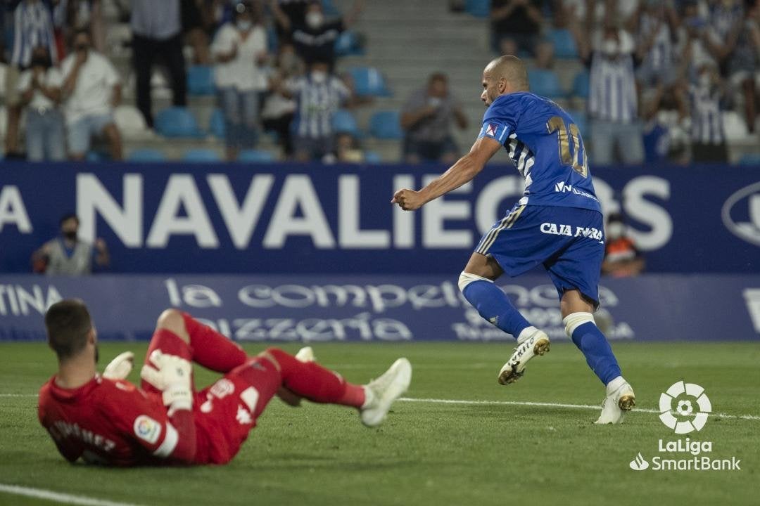
[(185, 319), (185, 328), (190, 335), (192, 359), (201, 366), (212, 371), (230, 372), (248, 360), (239, 344), (198, 322), (188, 313), (182, 313), (182, 318)]

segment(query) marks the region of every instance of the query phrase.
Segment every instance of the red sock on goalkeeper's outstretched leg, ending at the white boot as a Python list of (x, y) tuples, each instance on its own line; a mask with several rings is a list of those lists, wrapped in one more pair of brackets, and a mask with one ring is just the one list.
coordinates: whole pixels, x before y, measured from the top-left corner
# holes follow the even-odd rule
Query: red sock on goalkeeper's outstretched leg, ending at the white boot
[(365, 398), (362, 386), (347, 382), (336, 372), (325, 369), (318, 363), (300, 362), (283, 350), (268, 348), (267, 353), (277, 360), (283, 385), (294, 394), (323, 404), (363, 406)]

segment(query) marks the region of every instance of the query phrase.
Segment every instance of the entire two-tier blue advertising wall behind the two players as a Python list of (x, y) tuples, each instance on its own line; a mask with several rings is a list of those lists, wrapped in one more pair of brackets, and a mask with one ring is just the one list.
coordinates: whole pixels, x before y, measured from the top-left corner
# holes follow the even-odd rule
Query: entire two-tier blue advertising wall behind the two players
[[(169, 306), (239, 341), (509, 339), (461, 299), (456, 280), (523, 183), (511, 166), (489, 165), (420, 212), (391, 206), (395, 189), (443, 170), (4, 163), (0, 341), (44, 339), (44, 310), (62, 297), (84, 299), (109, 339), (150, 338)], [(605, 212), (629, 216), (650, 272), (603, 279), (610, 338), (760, 338), (760, 168), (600, 168), (594, 183)], [(85, 238), (109, 244), (111, 272), (28, 274), (30, 253), (68, 211)], [(500, 284), (565, 338), (546, 275)]]

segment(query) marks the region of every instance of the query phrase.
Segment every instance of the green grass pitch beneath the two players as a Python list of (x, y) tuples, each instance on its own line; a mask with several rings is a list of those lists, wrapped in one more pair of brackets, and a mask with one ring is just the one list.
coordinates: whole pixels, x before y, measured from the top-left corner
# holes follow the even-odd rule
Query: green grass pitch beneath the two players
[[(103, 343), (103, 363), (146, 343)], [(296, 344), (285, 349), (295, 351)], [(598, 405), (603, 388), (572, 344), (554, 344), (514, 385), (496, 383), (508, 344), (314, 344), (353, 382), (408, 357), (408, 398)], [(255, 353), (262, 345), (247, 345)], [(36, 393), (55, 369), (44, 344), (0, 344), (0, 483), (135, 504), (760, 504), (760, 343), (616, 343), (638, 407), (657, 410), (679, 380), (705, 387), (714, 413), (689, 438), (740, 471), (634, 471), (641, 451), (678, 437), (657, 413), (594, 426), (597, 410), (526, 404), (400, 401), (366, 429), (353, 410), (274, 399), (223, 467), (108, 469), (67, 464), (36, 420)], [(138, 367), (130, 379), (138, 378)], [(198, 385), (216, 376), (196, 371)], [(14, 397), (10, 394), (20, 394)], [(24, 395), (26, 394), (26, 395)], [(741, 418), (750, 415), (753, 417)], [(689, 458), (689, 454), (671, 455)], [(0, 492), (0, 504), (51, 504)]]

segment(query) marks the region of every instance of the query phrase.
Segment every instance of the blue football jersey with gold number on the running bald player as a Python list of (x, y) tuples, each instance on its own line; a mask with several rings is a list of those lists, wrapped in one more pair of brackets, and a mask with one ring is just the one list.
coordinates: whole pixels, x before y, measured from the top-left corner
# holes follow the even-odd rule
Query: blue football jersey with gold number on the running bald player
[(581, 132), (556, 103), (533, 93), (499, 96), (483, 115), (480, 137), (502, 143), (525, 178), (519, 204), (601, 211)]

